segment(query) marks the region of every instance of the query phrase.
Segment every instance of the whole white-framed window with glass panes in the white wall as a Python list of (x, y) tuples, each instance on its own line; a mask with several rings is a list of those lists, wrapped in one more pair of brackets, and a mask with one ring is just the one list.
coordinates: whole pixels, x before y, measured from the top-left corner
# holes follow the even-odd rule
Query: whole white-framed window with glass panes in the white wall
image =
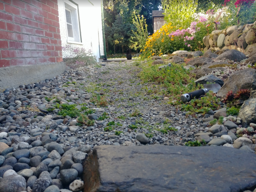
[(74, 3), (64, 0), (65, 15), (66, 15), (66, 29), (68, 42), (81, 42), (80, 30), (78, 25), (78, 6)]

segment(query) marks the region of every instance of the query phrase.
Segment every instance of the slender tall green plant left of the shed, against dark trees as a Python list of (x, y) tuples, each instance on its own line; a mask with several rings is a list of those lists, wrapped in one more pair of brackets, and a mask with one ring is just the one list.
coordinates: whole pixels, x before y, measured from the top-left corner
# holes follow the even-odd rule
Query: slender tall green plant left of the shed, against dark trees
[(138, 48), (143, 49), (146, 45), (146, 41), (148, 38), (148, 25), (146, 24), (146, 19), (142, 15), (136, 15), (134, 12), (134, 18), (132, 19), (134, 26), (136, 27), (136, 32), (132, 31), (138, 40)]

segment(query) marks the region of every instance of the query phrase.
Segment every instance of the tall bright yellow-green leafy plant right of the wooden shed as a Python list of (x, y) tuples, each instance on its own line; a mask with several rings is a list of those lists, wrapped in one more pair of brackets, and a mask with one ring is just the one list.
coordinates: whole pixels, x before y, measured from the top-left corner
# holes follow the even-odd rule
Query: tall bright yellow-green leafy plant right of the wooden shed
[(163, 0), (164, 20), (177, 28), (188, 28), (194, 21), (198, 0)]

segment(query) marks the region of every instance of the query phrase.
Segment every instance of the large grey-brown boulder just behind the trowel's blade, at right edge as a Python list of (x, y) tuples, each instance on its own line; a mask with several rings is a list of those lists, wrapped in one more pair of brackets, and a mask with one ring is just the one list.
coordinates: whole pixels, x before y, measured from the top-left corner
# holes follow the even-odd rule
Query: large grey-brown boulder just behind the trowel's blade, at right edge
[[(226, 97), (228, 91), (236, 93), (239, 89), (256, 89), (255, 69), (242, 69), (230, 75), (221, 89), (218, 91), (220, 97)], [(241, 78), (242, 77), (242, 78)]]

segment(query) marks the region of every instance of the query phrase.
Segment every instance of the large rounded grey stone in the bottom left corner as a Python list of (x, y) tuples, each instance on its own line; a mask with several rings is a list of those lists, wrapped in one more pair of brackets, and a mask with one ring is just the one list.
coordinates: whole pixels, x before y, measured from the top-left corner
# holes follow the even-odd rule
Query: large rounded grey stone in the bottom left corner
[(24, 177), (14, 174), (3, 178), (0, 182), (1, 192), (26, 191), (26, 180)]

